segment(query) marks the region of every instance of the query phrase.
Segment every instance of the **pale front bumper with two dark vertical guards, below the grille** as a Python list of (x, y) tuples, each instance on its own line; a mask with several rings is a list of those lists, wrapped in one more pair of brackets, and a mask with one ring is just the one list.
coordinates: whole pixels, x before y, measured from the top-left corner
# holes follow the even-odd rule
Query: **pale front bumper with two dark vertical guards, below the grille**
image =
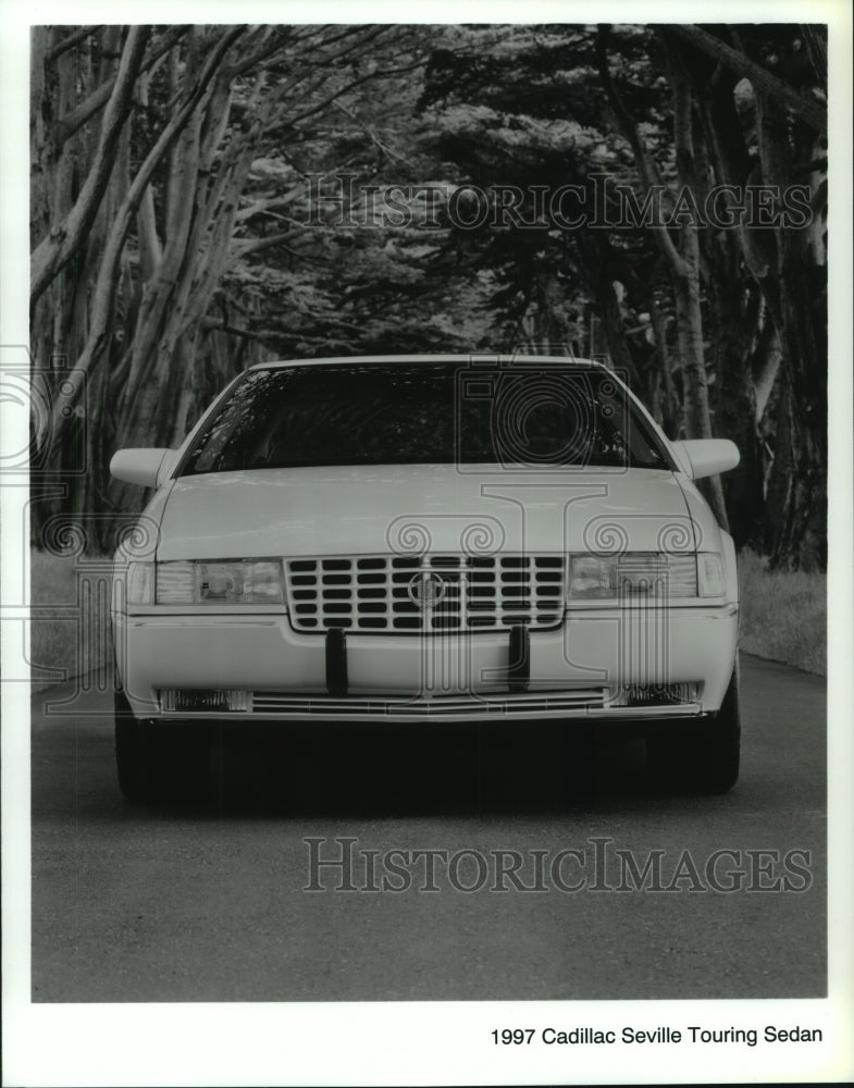
[[(346, 638), (346, 694), (331, 694), (322, 635), (284, 611), (113, 614), (116, 665), (140, 718), (466, 721), (651, 719), (715, 713), (732, 673), (738, 607), (579, 608), (531, 631), (524, 690), (510, 682), (509, 631)], [(627, 705), (630, 685), (691, 684), (678, 703)], [(245, 710), (169, 710), (162, 693), (235, 690)]]

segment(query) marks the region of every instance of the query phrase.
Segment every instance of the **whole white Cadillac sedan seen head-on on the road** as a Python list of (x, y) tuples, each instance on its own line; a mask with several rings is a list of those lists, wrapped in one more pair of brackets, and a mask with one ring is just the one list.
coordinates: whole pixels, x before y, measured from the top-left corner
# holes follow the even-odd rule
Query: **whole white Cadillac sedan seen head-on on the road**
[(115, 556), (125, 795), (191, 722), (636, 727), (671, 784), (739, 770), (731, 537), (614, 371), (543, 357), (263, 363), (177, 450)]

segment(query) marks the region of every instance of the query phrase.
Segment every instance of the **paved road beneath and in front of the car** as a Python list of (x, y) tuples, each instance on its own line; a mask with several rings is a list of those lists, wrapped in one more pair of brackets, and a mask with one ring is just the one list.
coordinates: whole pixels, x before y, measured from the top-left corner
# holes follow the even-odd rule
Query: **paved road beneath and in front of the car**
[[(115, 786), (107, 696), (46, 715), (71, 694), (51, 689), (34, 698), (34, 1000), (820, 997), (825, 684), (744, 657), (742, 685), (726, 796), (656, 793), (627, 742), (567, 806), (554, 730), (434, 727), (237, 751), (213, 800), (144, 809)], [(345, 849), (349, 869), (312, 873), (311, 850)], [(635, 890), (651, 858), (672, 890)]]

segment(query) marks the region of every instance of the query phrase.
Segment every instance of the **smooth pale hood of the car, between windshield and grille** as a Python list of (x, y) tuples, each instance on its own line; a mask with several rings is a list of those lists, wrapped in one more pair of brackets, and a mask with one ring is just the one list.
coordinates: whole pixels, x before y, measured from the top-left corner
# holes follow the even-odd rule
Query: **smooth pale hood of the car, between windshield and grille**
[(693, 551), (696, 537), (717, 532), (705, 504), (693, 514), (674, 473), (659, 469), (221, 472), (172, 483), (158, 558)]

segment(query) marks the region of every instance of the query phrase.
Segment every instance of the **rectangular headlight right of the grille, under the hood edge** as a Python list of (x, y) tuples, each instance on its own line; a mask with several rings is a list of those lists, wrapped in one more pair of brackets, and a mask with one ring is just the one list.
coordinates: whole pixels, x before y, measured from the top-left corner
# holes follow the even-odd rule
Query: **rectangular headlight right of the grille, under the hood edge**
[(695, 597), (697, 560), (693, 553), (627, 552), (624, 555), (572, 555), (569, 599), (618, 597)]

